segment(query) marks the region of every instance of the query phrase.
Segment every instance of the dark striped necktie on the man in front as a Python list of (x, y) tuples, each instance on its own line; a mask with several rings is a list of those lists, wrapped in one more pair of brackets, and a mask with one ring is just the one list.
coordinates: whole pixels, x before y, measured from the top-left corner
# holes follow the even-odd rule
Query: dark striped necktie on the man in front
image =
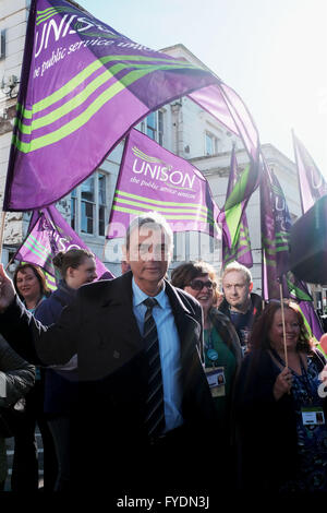
[(145, 426), (149, 437), (160, 434), (165, 428), (164, 386), (158, 343), (158, 332), (153, 309), (158, 305), (154, 298), (144, 301), (147, 307), (144, 317), (144, 347), (148, 360), (148, 391), (146, 399)]

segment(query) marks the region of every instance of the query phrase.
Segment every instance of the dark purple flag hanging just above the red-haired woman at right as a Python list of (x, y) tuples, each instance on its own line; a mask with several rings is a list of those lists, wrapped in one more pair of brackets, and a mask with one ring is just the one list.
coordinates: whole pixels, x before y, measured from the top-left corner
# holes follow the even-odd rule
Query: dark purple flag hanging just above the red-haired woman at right
[(320, 333), (319, 321), (312, 305), (312, 297), (305, 283), (288, 271), (289, 238), (291, 217), (289, 208), (274, 171), (263, 158), (261, 182), (261, 217), (262, 217), (262, 286), (264, 299), (295, 299), (313, 334)]

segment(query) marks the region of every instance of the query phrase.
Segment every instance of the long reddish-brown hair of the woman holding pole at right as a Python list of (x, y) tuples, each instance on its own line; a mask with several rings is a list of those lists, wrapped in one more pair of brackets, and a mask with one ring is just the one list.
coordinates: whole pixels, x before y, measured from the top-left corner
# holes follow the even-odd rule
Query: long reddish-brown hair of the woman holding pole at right
[[(268, 349), (270, 347), (269, 341), (269, 331), (271, 329), (274, 317), (277, 310), (281, 308), (281, 302), (274, 300), (269, 302), (265, 309), (262, 311), (258, 319), (255, 321), (251, 334), (250, 346), (251, 349)], [(296, 345), (298, 350), (304, 350), (311, 353), (313, 349), (313, 341), (310, 337), (310, 334), (304, 324), (303, 315), (299, 306), (289, 299), (283, 300), (283, 308), (293, 310), (296, 313), (299, 325), (300, 325), (300, 335), (299, 342)]]

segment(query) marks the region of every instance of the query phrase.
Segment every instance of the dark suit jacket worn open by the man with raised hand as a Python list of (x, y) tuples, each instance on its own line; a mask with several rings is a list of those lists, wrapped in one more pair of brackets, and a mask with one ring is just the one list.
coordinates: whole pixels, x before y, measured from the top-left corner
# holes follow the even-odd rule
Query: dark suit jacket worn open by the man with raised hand
[[(195, 445), (214, 419), (199, 358), (202, 309), (168, 282), (166, 293), (181, 344), (183, 429)], [(83, 429), (84, 437), (96, 437), (101, 451), (105, 445), (112, 451), (147, 443), (143, 422), (147, 362), (133, 314), (131, 272), (81, 287), (76, 300), (48, 329), (17, 299), (1, 315), (0, 326), (10, 344), (32, 362), (64, 363), (77, 353), (78, 432)]]

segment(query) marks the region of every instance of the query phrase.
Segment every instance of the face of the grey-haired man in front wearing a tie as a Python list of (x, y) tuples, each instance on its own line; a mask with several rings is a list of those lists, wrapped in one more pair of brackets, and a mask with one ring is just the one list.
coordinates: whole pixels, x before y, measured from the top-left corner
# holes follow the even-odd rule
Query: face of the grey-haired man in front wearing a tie
[(158, 227), (146, 224), (133, 229), (126, 262), (142, 290), (147, 293), (161, 285), (170, 258), (167, 237)]

